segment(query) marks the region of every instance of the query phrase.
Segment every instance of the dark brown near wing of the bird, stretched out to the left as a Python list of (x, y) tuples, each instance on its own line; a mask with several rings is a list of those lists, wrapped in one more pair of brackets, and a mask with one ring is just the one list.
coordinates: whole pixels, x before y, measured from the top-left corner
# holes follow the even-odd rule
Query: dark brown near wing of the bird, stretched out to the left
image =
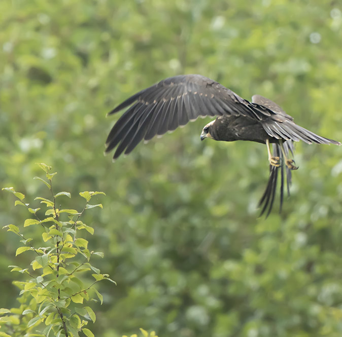
[(126, 99), (109, 114), (131, 105), (113, 126), (106, 153), (116, 148), (113, 159), (128, 154), (138, 143), (173, 131), (202, 116), (246, 116), (262, 120), (275, 114), (267, 107), (251, 104), (207, 77), (181, 75), (144, 89)]

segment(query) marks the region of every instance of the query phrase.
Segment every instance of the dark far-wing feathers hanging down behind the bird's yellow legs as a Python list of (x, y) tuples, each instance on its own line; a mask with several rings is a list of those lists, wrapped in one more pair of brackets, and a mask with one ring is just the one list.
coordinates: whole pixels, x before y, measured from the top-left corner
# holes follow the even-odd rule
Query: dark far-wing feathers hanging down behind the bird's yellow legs
[[(276, 166), (269, 165), (269, 178), (268, 178), (267, 186), (266, 186), (265, 192), (263, 193), (259, 201), (259, 207), (262, 207), (260, 216), (264, 212), (267, 212), (266, 217), (269, 215), (273, 206), (273, 202), (275, 201), (279, 170), (280, 170), (280, 176), (281, 176), (279, 212), (282, 211), (282, 206), (283, 206), (285, 179), (286, 179), (288, 195), (290, 195), (290, 185), (291, 185), (291, 179), (292, 179), (291, 170), (286, 165), (284, 165), (284, 156), (281, 151), (280, 145), (278, 143), (272, 144), (272, 145), (273, 145), (273, 156), (279, 157), (281, 159), (281, 166), (276, 167)], [(283, 145), (284, 145), (286, 157), (288, 157), (289, 152), (291, 152), (293, 156), (293, 141), (287, 140), (283, 143)], [(285, 172), (284, 172), (284, 166), (285, 166)]]

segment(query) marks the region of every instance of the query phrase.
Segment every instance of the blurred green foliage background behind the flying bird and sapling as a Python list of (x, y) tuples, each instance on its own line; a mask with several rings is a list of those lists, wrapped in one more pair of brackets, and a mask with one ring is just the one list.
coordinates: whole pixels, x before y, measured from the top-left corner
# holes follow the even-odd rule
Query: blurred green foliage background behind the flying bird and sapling
[[(265, 146), (200, 142), (208, 119), (114, 164), (103, 155), (119, 117), (106, 113), (181, 73), (266, 96), (341, 140), (341, 9), (321, 0), (0, 2), (1, 185), (44, 195), (32, 177), (45, 162), (58, 172), (56, 192), (107, 194), (86, 219), (90, 247), (105, 252), (97, 266), (118, 284), (100, 285), (96, 336), (139, 327), (164, 337), (342, 335), (341, 148), (297, 143), (291, 198), (267, 219), (257, 210)], [(1, 226), (26, 216), (0, 194)], [(14, 257), (17, 246), (3, 230), (0, 307), (18, 305), (7, 266), (29, 259)]]

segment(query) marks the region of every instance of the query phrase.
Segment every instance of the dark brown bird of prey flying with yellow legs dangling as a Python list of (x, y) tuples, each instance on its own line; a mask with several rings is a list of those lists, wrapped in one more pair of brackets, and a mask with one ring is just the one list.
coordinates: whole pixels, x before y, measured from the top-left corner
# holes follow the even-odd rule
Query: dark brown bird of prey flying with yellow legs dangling
[[(270, 213), (276, 194), (278, 171), (281, 172), (280, 210), (284, 195), (284, 167), (287, 190), (291, 170), (296, 170), (293, 141), (312, 144), (336, 144), (293, 122), (276, 103), (260, 95), (252, 101), (241, 98), (216, 81), (198, 74), (171, 77), (146, 88), (115, 107), (109, 115), (130, 106), (118, 119), (106, 141), (106, 153), (116, 147), (113, 160), (129, 154), (141, 140), (173, 131), (198, 117), (217, 118), (202, 129), (200, 139), (249, 140), (266, 144), (270, 164), (269, 180), (260, 200), (262, 215)], [(270, 144), (272, 143), (273, 155)], [(285, 166), (284, 166), (285, 164)], [(266, 216), (267, 216), (266, 215)]]

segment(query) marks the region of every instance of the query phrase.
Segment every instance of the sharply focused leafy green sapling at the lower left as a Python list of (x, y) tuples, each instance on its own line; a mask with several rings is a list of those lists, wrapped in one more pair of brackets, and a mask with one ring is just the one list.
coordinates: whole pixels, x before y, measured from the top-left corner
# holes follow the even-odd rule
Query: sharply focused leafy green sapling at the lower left
[[(4, 188), (18, 199), (15, 206), (24, 206), (35, 218), (24, 221), (24, 228), (36, 226), (33, 231), (40, 231), (42, 240), (27, 237), (18, 226), (9, 224), (4, 227), (20, 237), (23, 246), (17, 248), (15, 255), (31, 251), (33, 260), (28, 268), (9, 266), (11, 272), (19, 272), (25, 277), (22, 281), (14, 281), (20, 289), (19, 308), (0, 309), (0, 324), (6, 332), (2, 336), (69, 336), (76, 337), (82, 331), (86, 336), (93, 336), (86, 328), (89, 321), (95, 322), (96, 315), (89, 305), (96, 298), (102, 303), (102, 295), (96, 290), (95, 284), (101, 280), (109, 280), (107, 274), (90, 263), (92, 256), (103, 257), (102, 252), (88, 249), (88, 240), (83, 238), (86, 232), (94, 234), (94, 229), (80, 218), (87, 209), (101, 207), (101, 204), (91, 205), (88, 202), (93, 196), (102, 192), (81, 192), (85, 204), (81, 211), (57, 206), (59, 197), (71, 198), (69, 192), (54, 193), (52, 179), (56, 173), (50, 173), (51, 167), (39, 164), (45, 171), (46, 179), (35, 177), (47, 186), (51, 192), (50, 199), (37, 197), (46, 208), (45, 216), (41, 217), (40, 208), (32, 209), (29, 203), (24, 203), (25, 196), (12, 187)], [(82, 231), (85, 230), (85, 231)], [(26, 253), (28, 254), (28, 253)], [(93, 280), (89, 282), (87, 274)]]

